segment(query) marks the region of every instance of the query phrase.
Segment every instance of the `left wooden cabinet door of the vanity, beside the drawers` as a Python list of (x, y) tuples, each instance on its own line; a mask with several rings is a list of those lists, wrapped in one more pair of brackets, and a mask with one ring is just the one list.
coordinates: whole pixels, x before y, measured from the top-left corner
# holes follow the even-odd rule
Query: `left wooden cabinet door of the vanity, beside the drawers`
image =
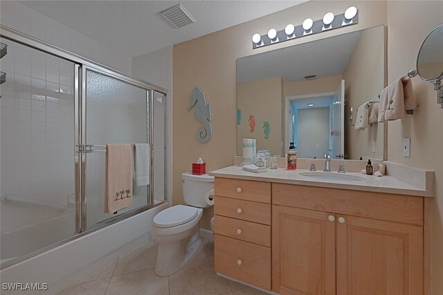
[(335, 214), (272, 206), (272, 289), (335, 294)]

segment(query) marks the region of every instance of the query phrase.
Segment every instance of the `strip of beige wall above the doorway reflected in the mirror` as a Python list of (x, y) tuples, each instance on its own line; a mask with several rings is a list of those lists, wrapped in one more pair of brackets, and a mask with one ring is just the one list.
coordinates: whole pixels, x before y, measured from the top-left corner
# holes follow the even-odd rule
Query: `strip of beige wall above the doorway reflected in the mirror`
[(335, 92), (341, 79), (343, 79), (342, 75), (331, 75), (313, 80), (284, 82), (284, 97)]

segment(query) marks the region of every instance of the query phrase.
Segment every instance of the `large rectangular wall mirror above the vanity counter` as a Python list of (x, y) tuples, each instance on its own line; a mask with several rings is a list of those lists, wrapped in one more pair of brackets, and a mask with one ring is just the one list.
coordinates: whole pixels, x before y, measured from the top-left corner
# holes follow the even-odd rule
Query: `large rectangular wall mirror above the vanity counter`
[[(237, 59), (237, 154), (242, 138), (257, 150), (298, 156), (383, 160), (385, 126), (357, 130), (349, 109), (378, 102), (385, 87), (384, 27), (297, 44)], [(378, 106), (378, 105), (377, 105)], [(374, 109), (375, 110), (375, 109)]]

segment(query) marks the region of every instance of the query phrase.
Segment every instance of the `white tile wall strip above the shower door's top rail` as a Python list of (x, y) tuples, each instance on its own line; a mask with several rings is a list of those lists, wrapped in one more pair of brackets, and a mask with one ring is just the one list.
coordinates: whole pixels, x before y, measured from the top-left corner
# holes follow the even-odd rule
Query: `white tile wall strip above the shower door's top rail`
[(3, 26), (8, 26), (123, 73), (131, 73), (131, 57), (123, 53), (100, 44), (16, 1), (1, 1), (0, 8), (0, 23)]

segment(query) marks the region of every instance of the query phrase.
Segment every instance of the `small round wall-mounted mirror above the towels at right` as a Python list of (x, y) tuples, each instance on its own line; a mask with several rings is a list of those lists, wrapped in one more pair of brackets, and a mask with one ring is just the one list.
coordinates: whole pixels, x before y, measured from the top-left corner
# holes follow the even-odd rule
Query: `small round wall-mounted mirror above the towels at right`
[(417, 56), (417, 71), (426, 82), (443, 78), (443, 24), (424, 40)]

